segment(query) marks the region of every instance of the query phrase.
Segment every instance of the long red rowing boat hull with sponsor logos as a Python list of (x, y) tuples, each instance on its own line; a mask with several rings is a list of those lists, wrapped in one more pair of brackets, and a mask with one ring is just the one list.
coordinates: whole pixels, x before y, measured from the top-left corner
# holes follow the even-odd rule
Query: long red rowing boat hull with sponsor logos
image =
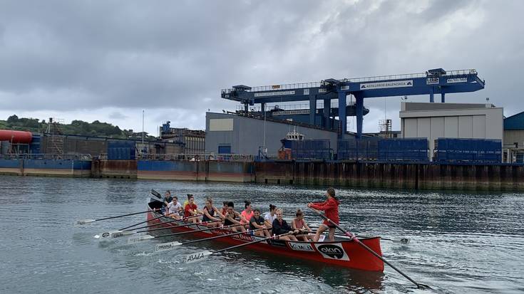
[[(162, 202), (156, 199), (150, 199), (150, 202), (148, 203), (149, 212), (147, 214), (149, 225), (159, 224), (165, 221), (172, 221), (167, 224), (155, 226), (155, 228), (173, 227), (173, 229), (170, 229), (170, 231), (173, 233), (208, 228), (207, 226), (200, 224), (174, 228), (174, 226), (184, 224), (183, 221), (173, 221), (173, 219), (169, 217), (160, 217), (161, 214), (153, 211), (153, 209), (160, 209), (161, 207)], [(166, 232), (164, 233), (167, 233), (168, 229), (165, 229), (165, 231)], [(216, 230), (212, 231), (195, 232), (192, 233), (191, 236), (196, 238), (207, 238), (229, 233), (232, 233), (232, 231), (217, 228)], [(230, 245), (240, 245), (242, 243), (261, 240), (262, 238), (263, 237), (252, 236), (250, 233), (245, 233), (224, 238), (217, 238), (216, 241)], [(379, 236), (359, 238), (359, 240), (361, 243), (364, 243), (380, 256), (382, 255)], [(364, 249), (362, 246), (359, 246), (356, 241), (345, 236), (337, 236), (334, 242), (305, 242), (270, 239), (267, 241), (250, 244), (245, 246), (245, 248), (253, 251), (269, 253), (274, 256), (284, 256), (291, 259), (294, 258), (305, 261), (314, 261), (317, 263), (341, 266), (344, 268), (355, 268), (364, 271), (384, 271), (383, 261), (371, 254), (369, 251), (366, 251), (366, 249)]]

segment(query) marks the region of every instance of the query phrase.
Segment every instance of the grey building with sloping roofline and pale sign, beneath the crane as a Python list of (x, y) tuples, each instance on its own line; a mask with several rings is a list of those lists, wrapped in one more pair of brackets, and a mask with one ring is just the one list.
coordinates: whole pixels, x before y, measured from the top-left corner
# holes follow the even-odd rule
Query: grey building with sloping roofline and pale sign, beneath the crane
[[(319, 127), (306, 127), (296, 122), (269, 121), (233, 113), (207, 112), (205, 115), (205, 152), (257, 155), (259, 147), (267, 147), (267, 154), (276, 155), (282, 147), (280, 140), (296, 130), (304, 139), (329, 139), (337, 150), (337, 132)], [(349, 136), (349, 135), (348, 135)]]

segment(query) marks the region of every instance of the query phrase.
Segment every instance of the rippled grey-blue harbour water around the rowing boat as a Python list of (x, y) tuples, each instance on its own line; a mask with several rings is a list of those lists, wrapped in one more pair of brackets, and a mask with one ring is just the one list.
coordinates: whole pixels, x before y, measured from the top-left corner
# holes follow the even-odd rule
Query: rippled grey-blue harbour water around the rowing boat
[[(417, 290), (386, 266), (384, 273), (344, 270), (249, 251), (180, 263), (180, 256), (222, 246), (195, 243), (152, 253), (152, 240), (133, 246), (93, 236), (145, 215), (76, 226), (145, 210), (150, 189), (171, 189), (221, 201), (244, 199), (291, 214), (321, 201), (324, 188), (255, 184), (0, 176), (0, 293), (523, 293), (524, 194), (458, 194), (337, 189), (341, 226), (382, 241), (384, 257), (433, 290)], [(308, 212), (308, 211), (306, 211)], [(319, 224), (312, 214), (307, 221)]]

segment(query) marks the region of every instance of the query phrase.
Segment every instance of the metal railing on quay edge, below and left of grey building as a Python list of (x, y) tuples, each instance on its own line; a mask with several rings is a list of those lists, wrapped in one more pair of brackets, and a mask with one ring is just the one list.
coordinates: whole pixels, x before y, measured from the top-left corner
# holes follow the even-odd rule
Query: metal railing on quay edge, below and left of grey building
[(202, 160), (211, 160), (219, 162), (253, 162), (255, 156), (248, 154), (217, 154), (217, 153), (200, 153), (200, 154), (138, 154), (139, 160), (166, 160), (166, 161), (189, 161), (197, 162)]

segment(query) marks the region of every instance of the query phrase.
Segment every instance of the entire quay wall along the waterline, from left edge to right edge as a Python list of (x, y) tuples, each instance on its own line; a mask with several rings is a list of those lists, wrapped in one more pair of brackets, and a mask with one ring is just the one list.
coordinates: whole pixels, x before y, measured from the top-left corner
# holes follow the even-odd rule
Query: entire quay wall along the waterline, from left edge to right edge
[(524, 191), (522, 164), (0, 159), (0, 174), (256, 182), (426, 190)]

